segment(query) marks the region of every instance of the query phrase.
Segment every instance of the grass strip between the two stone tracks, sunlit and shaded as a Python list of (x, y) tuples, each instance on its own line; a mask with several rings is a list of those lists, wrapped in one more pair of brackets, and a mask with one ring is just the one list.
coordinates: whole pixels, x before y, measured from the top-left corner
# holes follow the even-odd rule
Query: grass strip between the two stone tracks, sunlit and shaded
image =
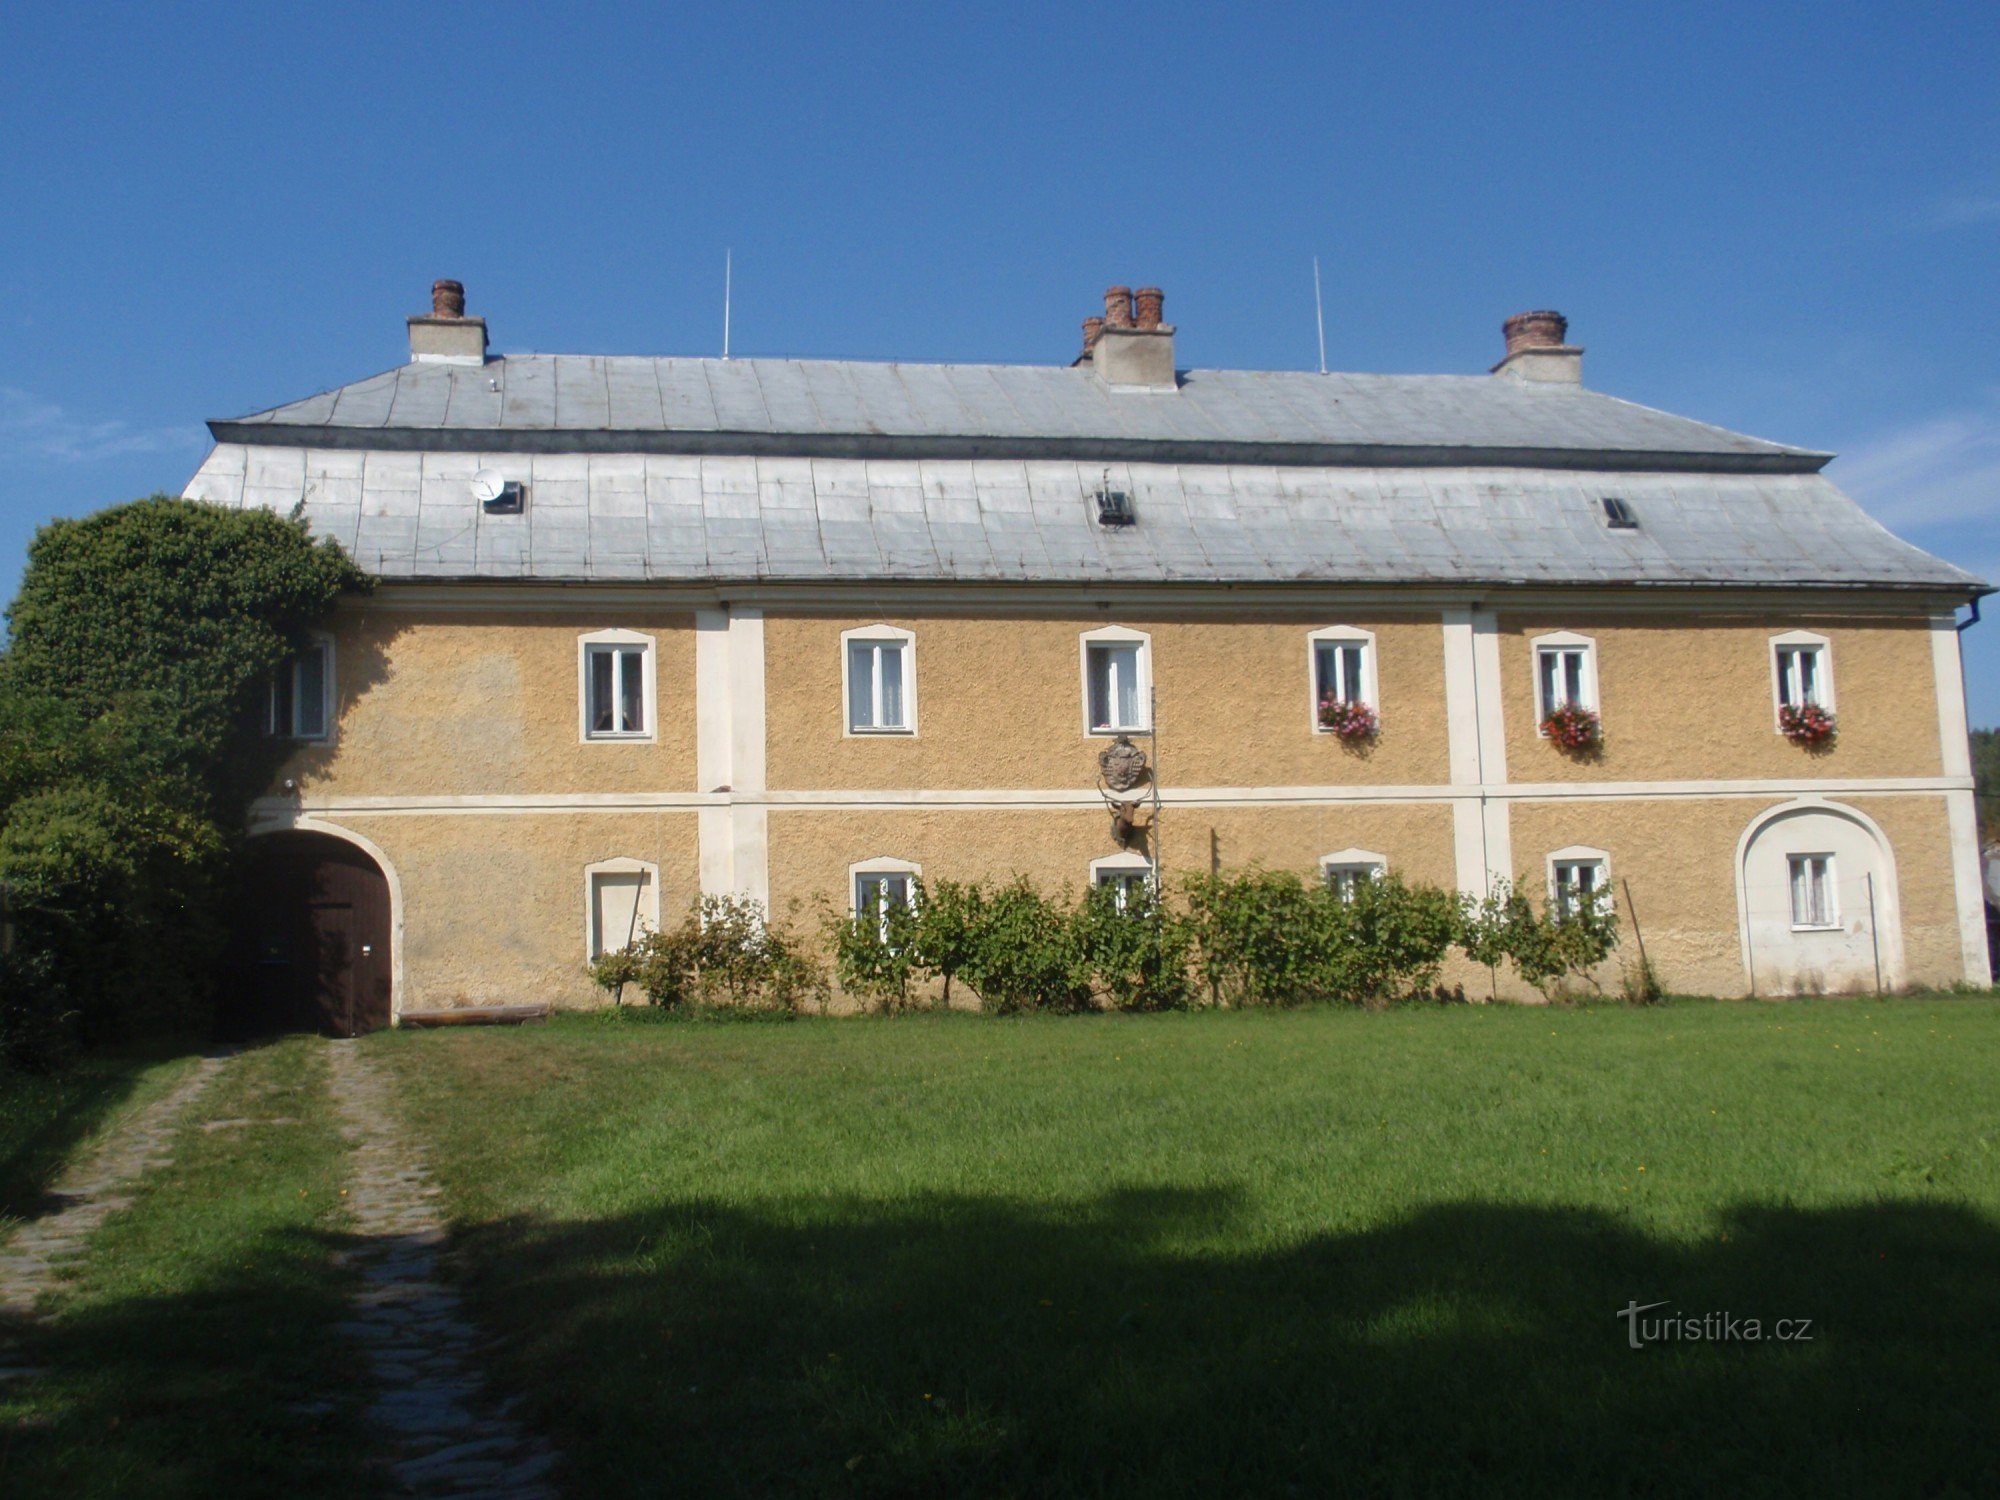
[[(134, 1096), (184, 1066), (132, 1078)], [(254, 1124), (202, 1128), (232, 1120)], [(52, 1316), (8, 1340), (4, 1364), (44, 1374), (0, 1382), (0, 1494), (378, 1492), (366, 1370), (334, 1328), (344, 1172), (322, 1044), (234, 1058), (178, 1132), (174, 1164), (106, 1220)]]

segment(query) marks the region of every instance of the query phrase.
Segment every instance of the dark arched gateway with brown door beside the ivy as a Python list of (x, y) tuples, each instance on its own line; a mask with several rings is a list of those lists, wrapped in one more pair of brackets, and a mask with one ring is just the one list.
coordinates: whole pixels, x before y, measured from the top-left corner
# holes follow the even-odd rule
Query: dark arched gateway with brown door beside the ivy
[(360, 1036), (390, 1022), (388, 878), (330, 834), (250, 840), (232, 1032)]

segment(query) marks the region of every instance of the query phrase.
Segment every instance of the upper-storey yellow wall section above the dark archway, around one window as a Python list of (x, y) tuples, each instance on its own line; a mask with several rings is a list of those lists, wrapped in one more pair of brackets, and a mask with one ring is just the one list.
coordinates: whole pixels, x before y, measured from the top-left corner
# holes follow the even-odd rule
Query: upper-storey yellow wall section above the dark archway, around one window
[[(654, 636), (658, 734), (580, 742), (578, 636)], [(418, 614), (368, 600), (334, 618), (334, 740), (280, 776), (310, 794), (694, 790), (694, 616)]]

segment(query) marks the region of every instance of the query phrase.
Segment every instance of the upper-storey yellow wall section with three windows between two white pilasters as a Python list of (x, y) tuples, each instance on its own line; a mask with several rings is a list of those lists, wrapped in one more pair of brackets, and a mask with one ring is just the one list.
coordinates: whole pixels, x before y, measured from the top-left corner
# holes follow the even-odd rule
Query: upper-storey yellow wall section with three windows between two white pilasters
[[(840, 632), (868, 624), (916, 632), (916, 736), (844, 736)], [(1158, 760), (1172, 786), (1408, 786), (1448, 776), (1436, 618), (842, 614), (764, 622), (770, 784), (1090, 786), (1106, 738), (1084, 734), (1078, 636), (1108, 624), (1152, 636)], [(1382, 734), (1364, 754), (1312, 732), (1306, 632), (1330, 624), (1376, 632)]]

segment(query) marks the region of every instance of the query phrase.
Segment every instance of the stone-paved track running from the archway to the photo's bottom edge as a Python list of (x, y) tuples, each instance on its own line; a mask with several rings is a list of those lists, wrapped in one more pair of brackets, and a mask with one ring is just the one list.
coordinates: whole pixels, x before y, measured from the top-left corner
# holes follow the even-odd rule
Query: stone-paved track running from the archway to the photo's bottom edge
[(404, 1494), (554, 1500), (556, 1450), (484, 1396), (478, 1330), (440, 1278), (438, 1188), (394, 1122), (388, 1078), (360, 1042), (328, 1050), (334, 1108), (354, 1144), (348, 1264), (360, 1290), (342, 1332), (368, 1354), (378, 1392), (368, 1416), (396, 1450), (392, 1478)]

